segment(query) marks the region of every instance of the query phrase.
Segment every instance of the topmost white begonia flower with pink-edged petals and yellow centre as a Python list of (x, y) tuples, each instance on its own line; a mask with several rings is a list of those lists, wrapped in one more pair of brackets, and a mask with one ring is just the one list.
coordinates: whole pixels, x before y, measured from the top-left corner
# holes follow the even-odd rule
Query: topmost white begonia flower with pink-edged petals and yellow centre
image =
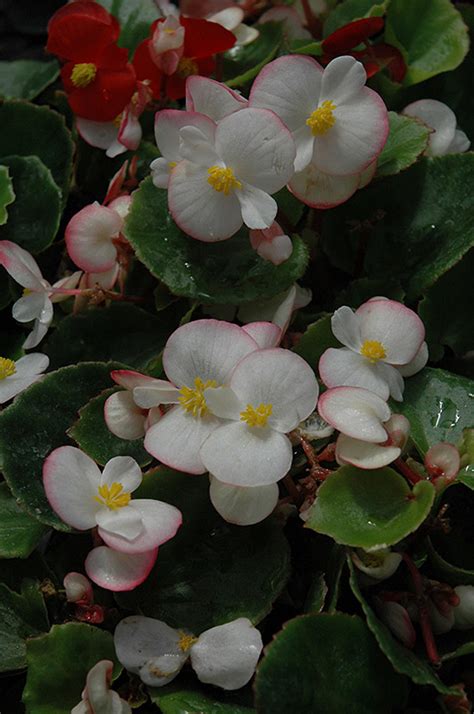
[(250, 92), (249, 105), (271, 109), (296, 143), (295, 171), (312, 163), (325, 174), (364, 171), (382, 151), (388, 112), (353, 57), (337, 57), (325, 69), (316, 60), (286, 55), (267, 64)]

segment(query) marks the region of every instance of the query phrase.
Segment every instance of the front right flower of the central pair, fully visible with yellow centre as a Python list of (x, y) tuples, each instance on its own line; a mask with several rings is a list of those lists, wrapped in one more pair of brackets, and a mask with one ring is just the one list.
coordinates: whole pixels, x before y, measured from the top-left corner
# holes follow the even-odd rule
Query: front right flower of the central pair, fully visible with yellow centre
[(267, 486), (290, 470), (293, 451), (286, 434), (316, 407), (318, 384), (294, 352), (266, 349), (241, 360), (229, 387), (206, 390), (205, 398), (227, 423), (204, 442), (204, 466), (232, 486)]

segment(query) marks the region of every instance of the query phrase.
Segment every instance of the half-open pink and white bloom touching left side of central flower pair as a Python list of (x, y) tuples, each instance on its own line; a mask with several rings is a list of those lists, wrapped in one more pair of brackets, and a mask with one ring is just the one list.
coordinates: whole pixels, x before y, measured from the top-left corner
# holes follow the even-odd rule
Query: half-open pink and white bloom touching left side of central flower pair
[[(129, 369), (116, 369), (110, 376), (123, 392), (114, 392), (104, 403), (107, 428), (120, 439), (140, 439), (161, 419), (160, 404), (175, 395), (170, 383)], [(135, 398), (135, 396), (137, 398)]]

